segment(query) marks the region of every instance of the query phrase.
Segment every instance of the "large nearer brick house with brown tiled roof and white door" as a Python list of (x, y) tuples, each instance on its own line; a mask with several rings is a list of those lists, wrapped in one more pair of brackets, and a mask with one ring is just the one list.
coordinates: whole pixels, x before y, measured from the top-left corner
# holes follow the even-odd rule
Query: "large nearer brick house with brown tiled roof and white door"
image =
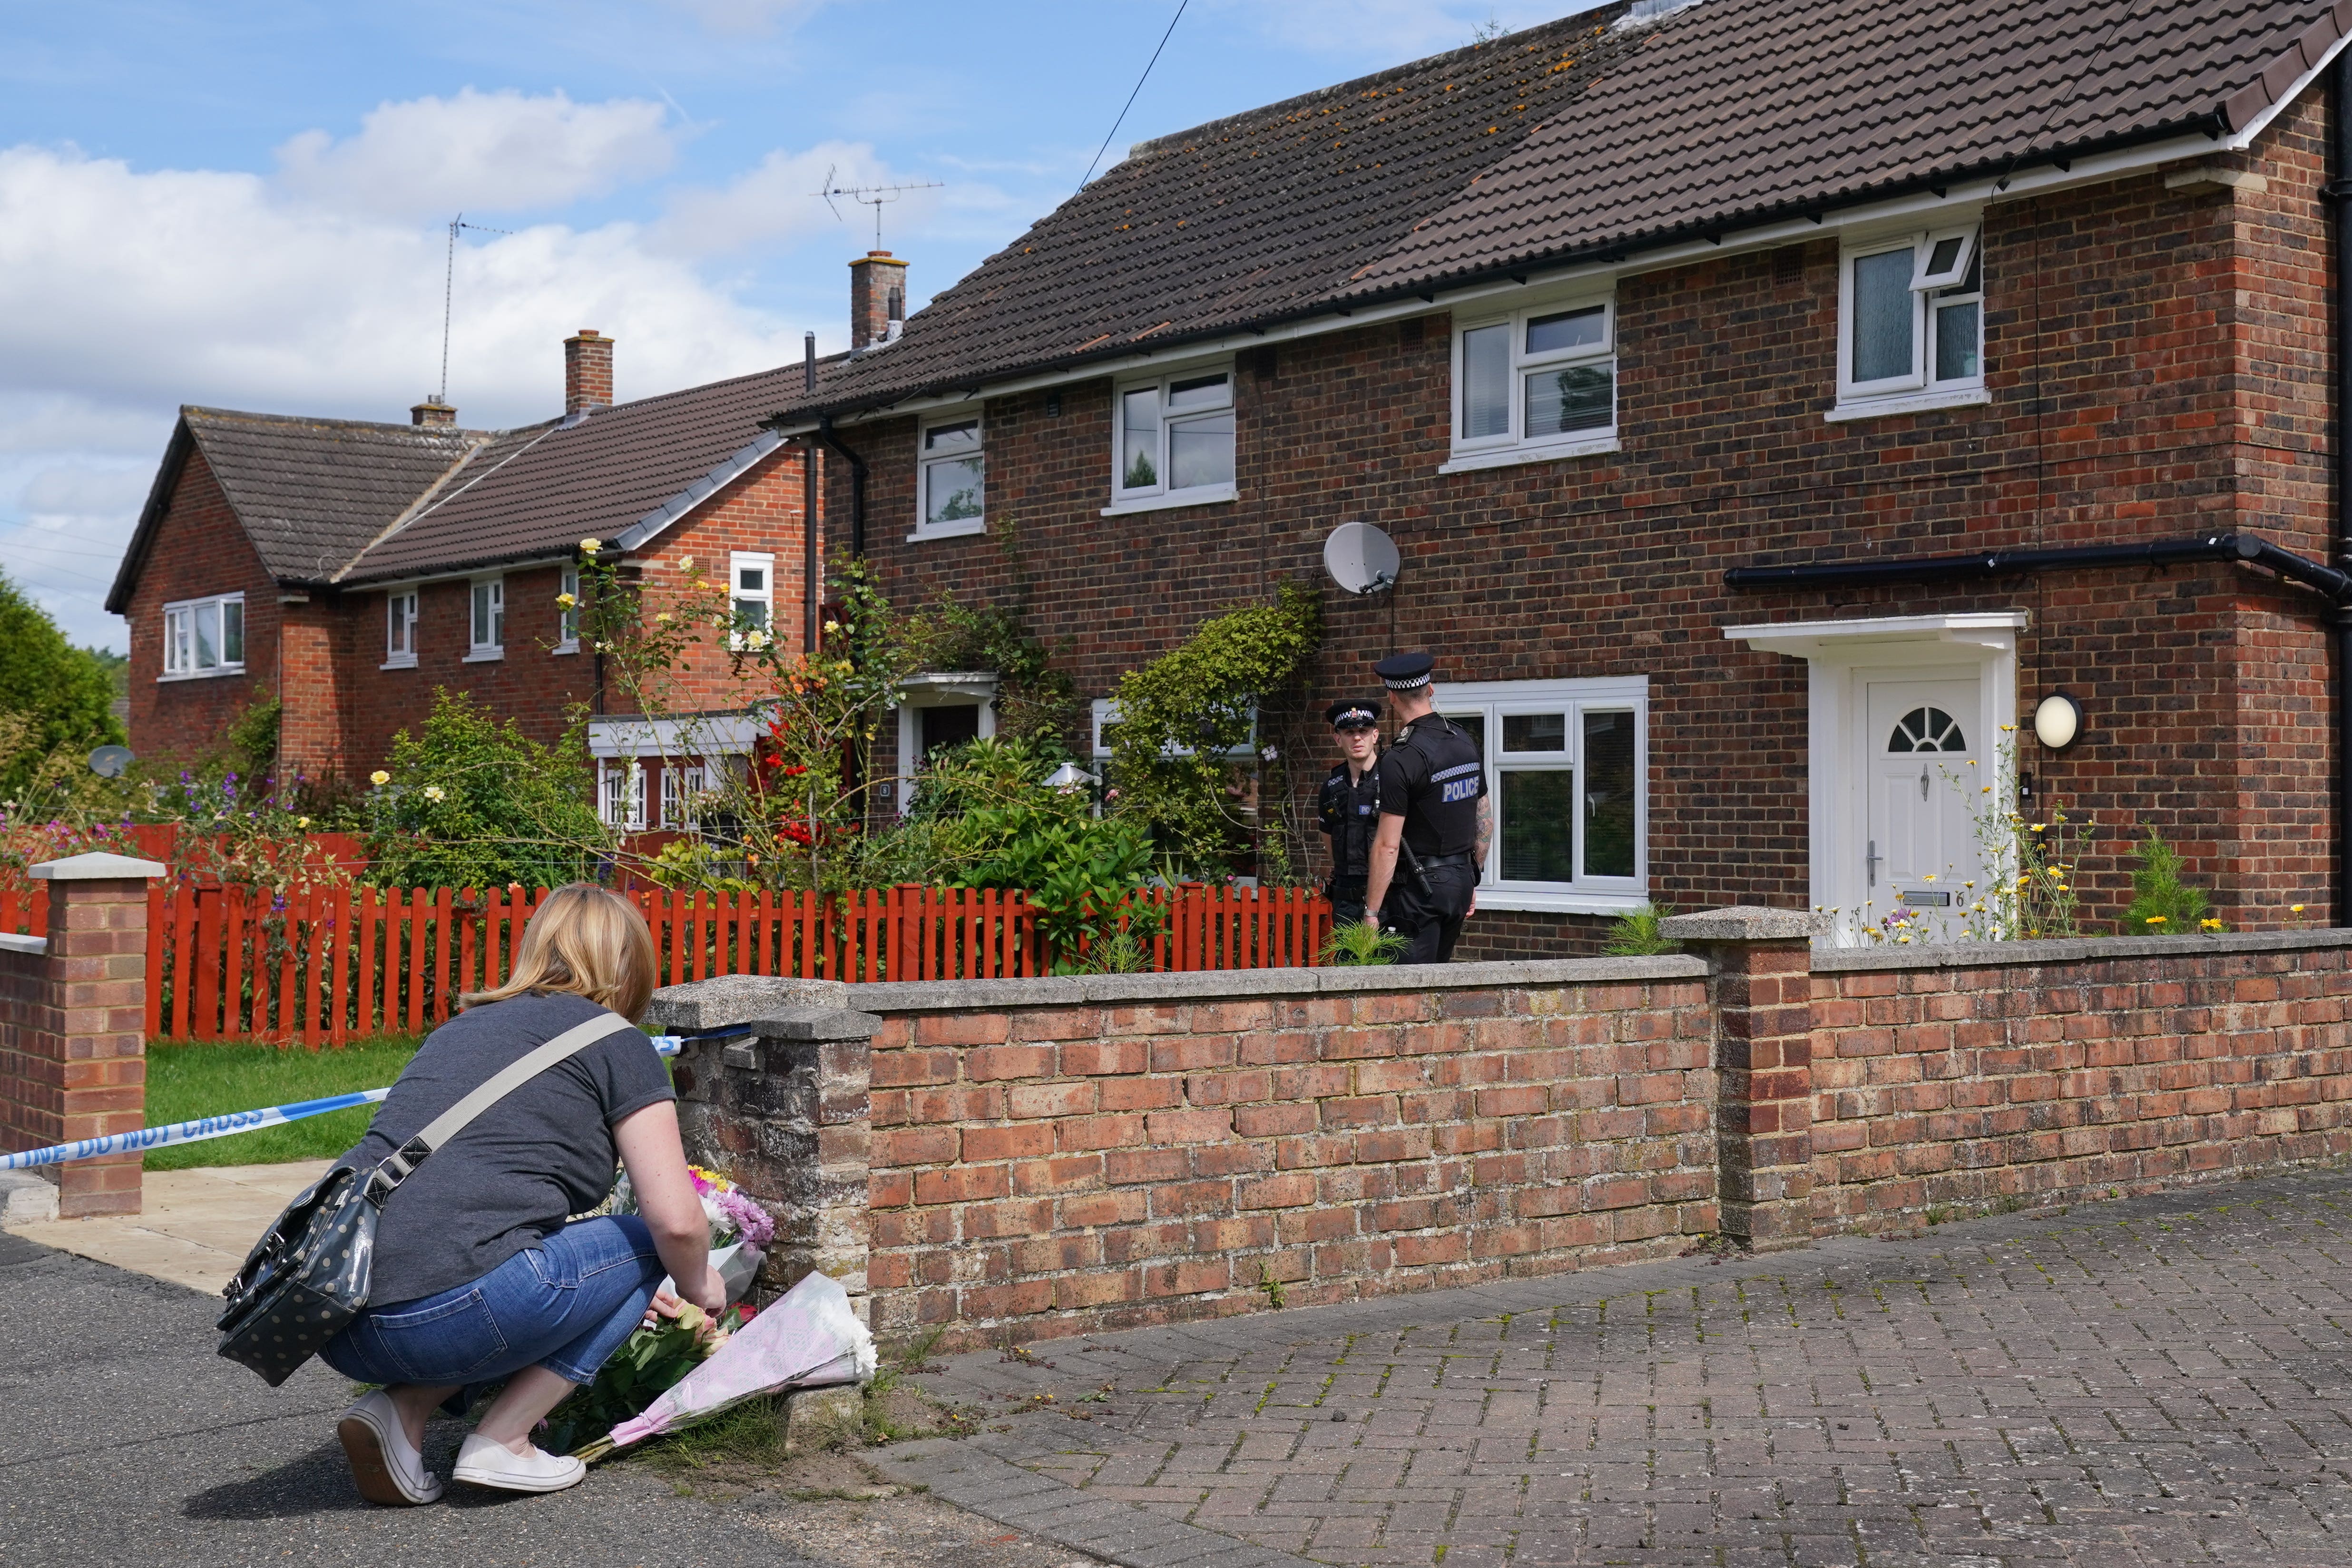
[[(849, 458), (894, 595), (1018, 602), (1098, 717), (1282, 581), (1327, 588), (1317, 708), (1430, 646), (1501, 806), (1477, 952), (1644, 900), (1957, 919), (2018, 722), (2091, 912), (2154, 827), (2281, 924), (2345, 896), (2345, 33), (1609, 5), (1141, 143), (910, 320), (877, 252), (771, 428)], [(1324, 578), (1348, 520), (1390, 592)]]

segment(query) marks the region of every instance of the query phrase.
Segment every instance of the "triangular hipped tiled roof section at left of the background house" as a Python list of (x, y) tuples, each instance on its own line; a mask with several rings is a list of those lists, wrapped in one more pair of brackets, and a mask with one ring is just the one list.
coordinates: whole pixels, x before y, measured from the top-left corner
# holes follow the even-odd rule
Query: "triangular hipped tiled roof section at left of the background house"
[(261, 564), (325, 583), (482, 442), (482, 430), (181, 409)]

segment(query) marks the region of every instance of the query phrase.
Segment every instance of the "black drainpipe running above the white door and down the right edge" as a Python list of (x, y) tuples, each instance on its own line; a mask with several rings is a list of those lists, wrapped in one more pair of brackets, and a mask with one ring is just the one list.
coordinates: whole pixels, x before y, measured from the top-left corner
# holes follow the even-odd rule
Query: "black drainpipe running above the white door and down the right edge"
[[(2338, 66), (2340, 71), (2340, 66)], [(2345, 78), (2338, 75), (2338, 89)], [(2340, 99), (2347, 101), (2347, 99)], [(2343, 134), (2338, 129), (2338, 134)], [(2343, 143), (2340, 143), (2343, 146)], [(2352, 148), (2345, 148), (2352, 150)], [(2352, 165), (2347, 165), (2352, 167)], [(2338, 195), (2338, 268), (2343, 268), (2345, 197)], [(2338, 273), (2338, 301), (2352, 301)], [(2338, 310), (2340, 320), (2343, 310)], [(2338, 348), (2338, 376), (2345, 357)], [(2352, 463), (2345, 461), (2345, 435), (2352, 421), (2343, 416), (2338, 393), (2338, 508), (2352, 496)], [(2343, 550), (2352, 557), (2352, 548)], [(1731, 567), (1724, 588), (1882, 588), (1889, 583), (1985, 583), (2037, 571), (2091, 571), (2098, 567), (2180, 567), (2187, 562), (2244, 562), (2265, 567), (2281, 578), (2314, 588), (2328, 597), (2336, 630), (2336, 924), (2352, 926), (2352, 701), (2345, 672), (2352, 670), (2352, 574), (2307, 562), (2293, 550), (2253, 534), (2206, 534), (2201, 538), (2159, 538), (2143, 545), (2074, 545), (2067, 550), (1983, 550), (1978, 555), (1917, 555), (1910, 559), (1820, 562), (1811, 567)], [(2352, 559), (2347, 559), (2352, 564)]]

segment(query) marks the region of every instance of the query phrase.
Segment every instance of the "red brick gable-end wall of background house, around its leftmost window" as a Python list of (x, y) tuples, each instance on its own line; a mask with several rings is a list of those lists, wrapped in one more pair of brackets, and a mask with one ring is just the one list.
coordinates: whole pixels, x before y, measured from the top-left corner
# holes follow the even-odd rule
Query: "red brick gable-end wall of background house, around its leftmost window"
[[(216, 592), (245, 592), (245, 675), (158, 682), (162, 675), (162, 607)], [(219, 745), (221, 733), (256, 696), (278, 691), (278, 585), (245, 538), (221, 482), (202, 451), (172, 487), (155, 541), (129, 611), (132, 750), (141, 757), (195, 757)]]

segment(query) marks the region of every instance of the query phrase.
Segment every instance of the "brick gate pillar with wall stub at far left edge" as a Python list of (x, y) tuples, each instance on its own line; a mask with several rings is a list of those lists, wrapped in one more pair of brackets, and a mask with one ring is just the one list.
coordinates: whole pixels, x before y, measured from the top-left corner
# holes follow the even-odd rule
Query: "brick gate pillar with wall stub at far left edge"
[[(0, 943), (0, 1138), (38, 1150), (146, 1126), (146, 884), (155, 860), (71, 856), (49, 936)], [(47, 1166), (59, 1218), (139, 1213), (139, 1154)]]

